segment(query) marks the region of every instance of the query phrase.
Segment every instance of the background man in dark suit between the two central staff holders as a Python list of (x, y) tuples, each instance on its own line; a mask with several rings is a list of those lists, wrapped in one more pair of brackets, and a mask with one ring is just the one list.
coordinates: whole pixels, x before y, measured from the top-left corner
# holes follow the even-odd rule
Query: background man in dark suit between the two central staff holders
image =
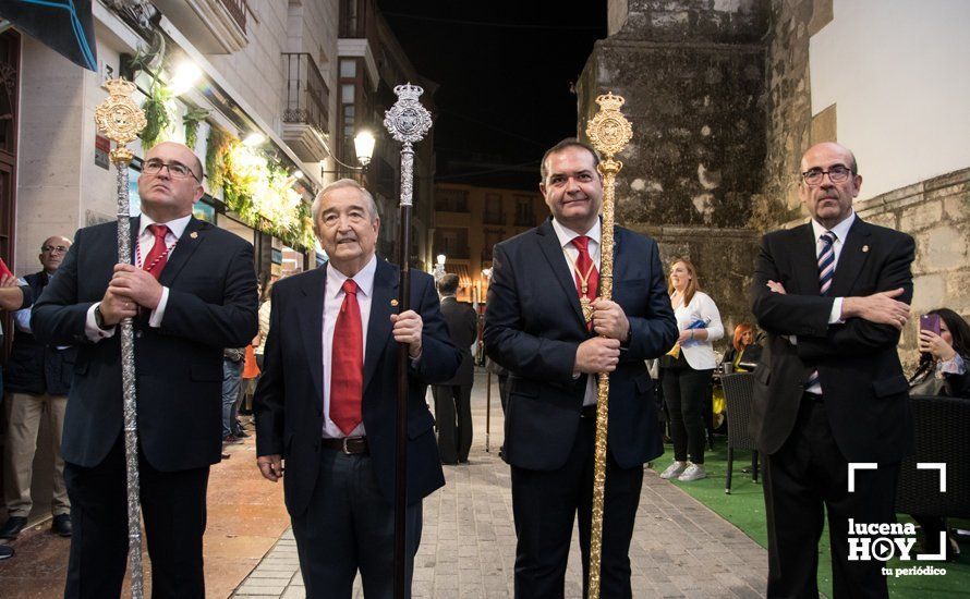
[(438, 280), (437, 286), (448, 334), (461, 354), (461, 364), (454, 378), (432, 387), (438, 426), (438, 452), (442, 464), (454, 465), (468, 462), (469, 450), (472, 448), (472, 383), (475, 379), (472, 343), (478, 338), (478, 315), (474, 308), (460, 304), (454, 298), (458, 274), (445, 274)]

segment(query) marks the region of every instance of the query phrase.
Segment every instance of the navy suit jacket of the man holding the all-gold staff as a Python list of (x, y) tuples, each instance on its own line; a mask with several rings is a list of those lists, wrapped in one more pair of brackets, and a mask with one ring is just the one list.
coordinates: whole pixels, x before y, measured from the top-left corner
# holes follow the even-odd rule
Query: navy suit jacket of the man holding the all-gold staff
[[(650, 237), (615, 229), (613, 298), (632, 337), (609, 377), (609, 451), (625, 468), (663, 453), (644, 359), (669, 350), (677, 322)], [(579, 429), (586, 375), (572, 376), (586, 329), (575, 282), (551, 218), (495, 246), (485, 313), (485, 347), (509, 369), (505, 455), (530, 469), (562, 467)]]

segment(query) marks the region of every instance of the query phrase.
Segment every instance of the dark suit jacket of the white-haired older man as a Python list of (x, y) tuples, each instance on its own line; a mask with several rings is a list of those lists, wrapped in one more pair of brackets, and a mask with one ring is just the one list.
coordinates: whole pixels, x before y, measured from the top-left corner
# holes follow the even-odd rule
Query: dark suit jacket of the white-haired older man
[[(253, 400), (257, 455), (280, 454), (287, 509), (302, 514), (317, 484), (324, 430), (323, 315), (326, 266), (289, 277), (272, 288), (269, 337), (263, 375)], [(395, 423), (397, 414), (398, 344), (390, 315), (398, 310), (400, 271), (377, 259), (374, 296), (364, 356), (363, 418), (377, 485), (390, 503), (395, 492)], [(438, 309), (434, 280), (411, 271), (411, 309), (424, 322), (422, 354), (409, 368), (408, 501), (416, 502), (445, 485), (434, 419), (424, 401), (428, 383), (454, 376), (458, 352)], [(324, 450), (327, 451), (327, 450)]]

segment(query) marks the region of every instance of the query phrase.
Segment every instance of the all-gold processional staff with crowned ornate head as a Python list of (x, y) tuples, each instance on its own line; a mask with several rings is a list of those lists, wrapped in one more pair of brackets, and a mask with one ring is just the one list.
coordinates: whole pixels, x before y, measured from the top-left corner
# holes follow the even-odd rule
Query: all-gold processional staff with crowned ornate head
[[(626, 100), (609, 94), (596, 98), (599, 112), (586, 125), (586, 136), (603, 157), (599, 173), (603, 175), (603, 244), (599, 265), (599, 297), (613, 297), (613, 228), (616, 175), (623, 163), (614, 156), (623, 150), (633, 137), (630, 121), (620, 112)], [(596, 445), (593, 464), (593, 522), (590, 530), (590, 594), (589, 599), (599, 599), (599, 562), (603, 554), (603, 491), (606, 487), (606, 425), (609, 417), (609, 374), (599, 375), (596, 403)]]

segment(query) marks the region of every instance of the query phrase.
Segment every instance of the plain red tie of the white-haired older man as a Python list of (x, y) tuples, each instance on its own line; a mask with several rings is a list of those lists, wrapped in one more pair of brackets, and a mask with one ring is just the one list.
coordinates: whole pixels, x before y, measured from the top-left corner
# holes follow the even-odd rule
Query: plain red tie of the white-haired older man
[(361, 424), (364, 394), (364, 331), (357, 305), (357, 284), (343, 281), (343, 304), (334, 327), (330, 355), (330, 420), (344, 435)]

